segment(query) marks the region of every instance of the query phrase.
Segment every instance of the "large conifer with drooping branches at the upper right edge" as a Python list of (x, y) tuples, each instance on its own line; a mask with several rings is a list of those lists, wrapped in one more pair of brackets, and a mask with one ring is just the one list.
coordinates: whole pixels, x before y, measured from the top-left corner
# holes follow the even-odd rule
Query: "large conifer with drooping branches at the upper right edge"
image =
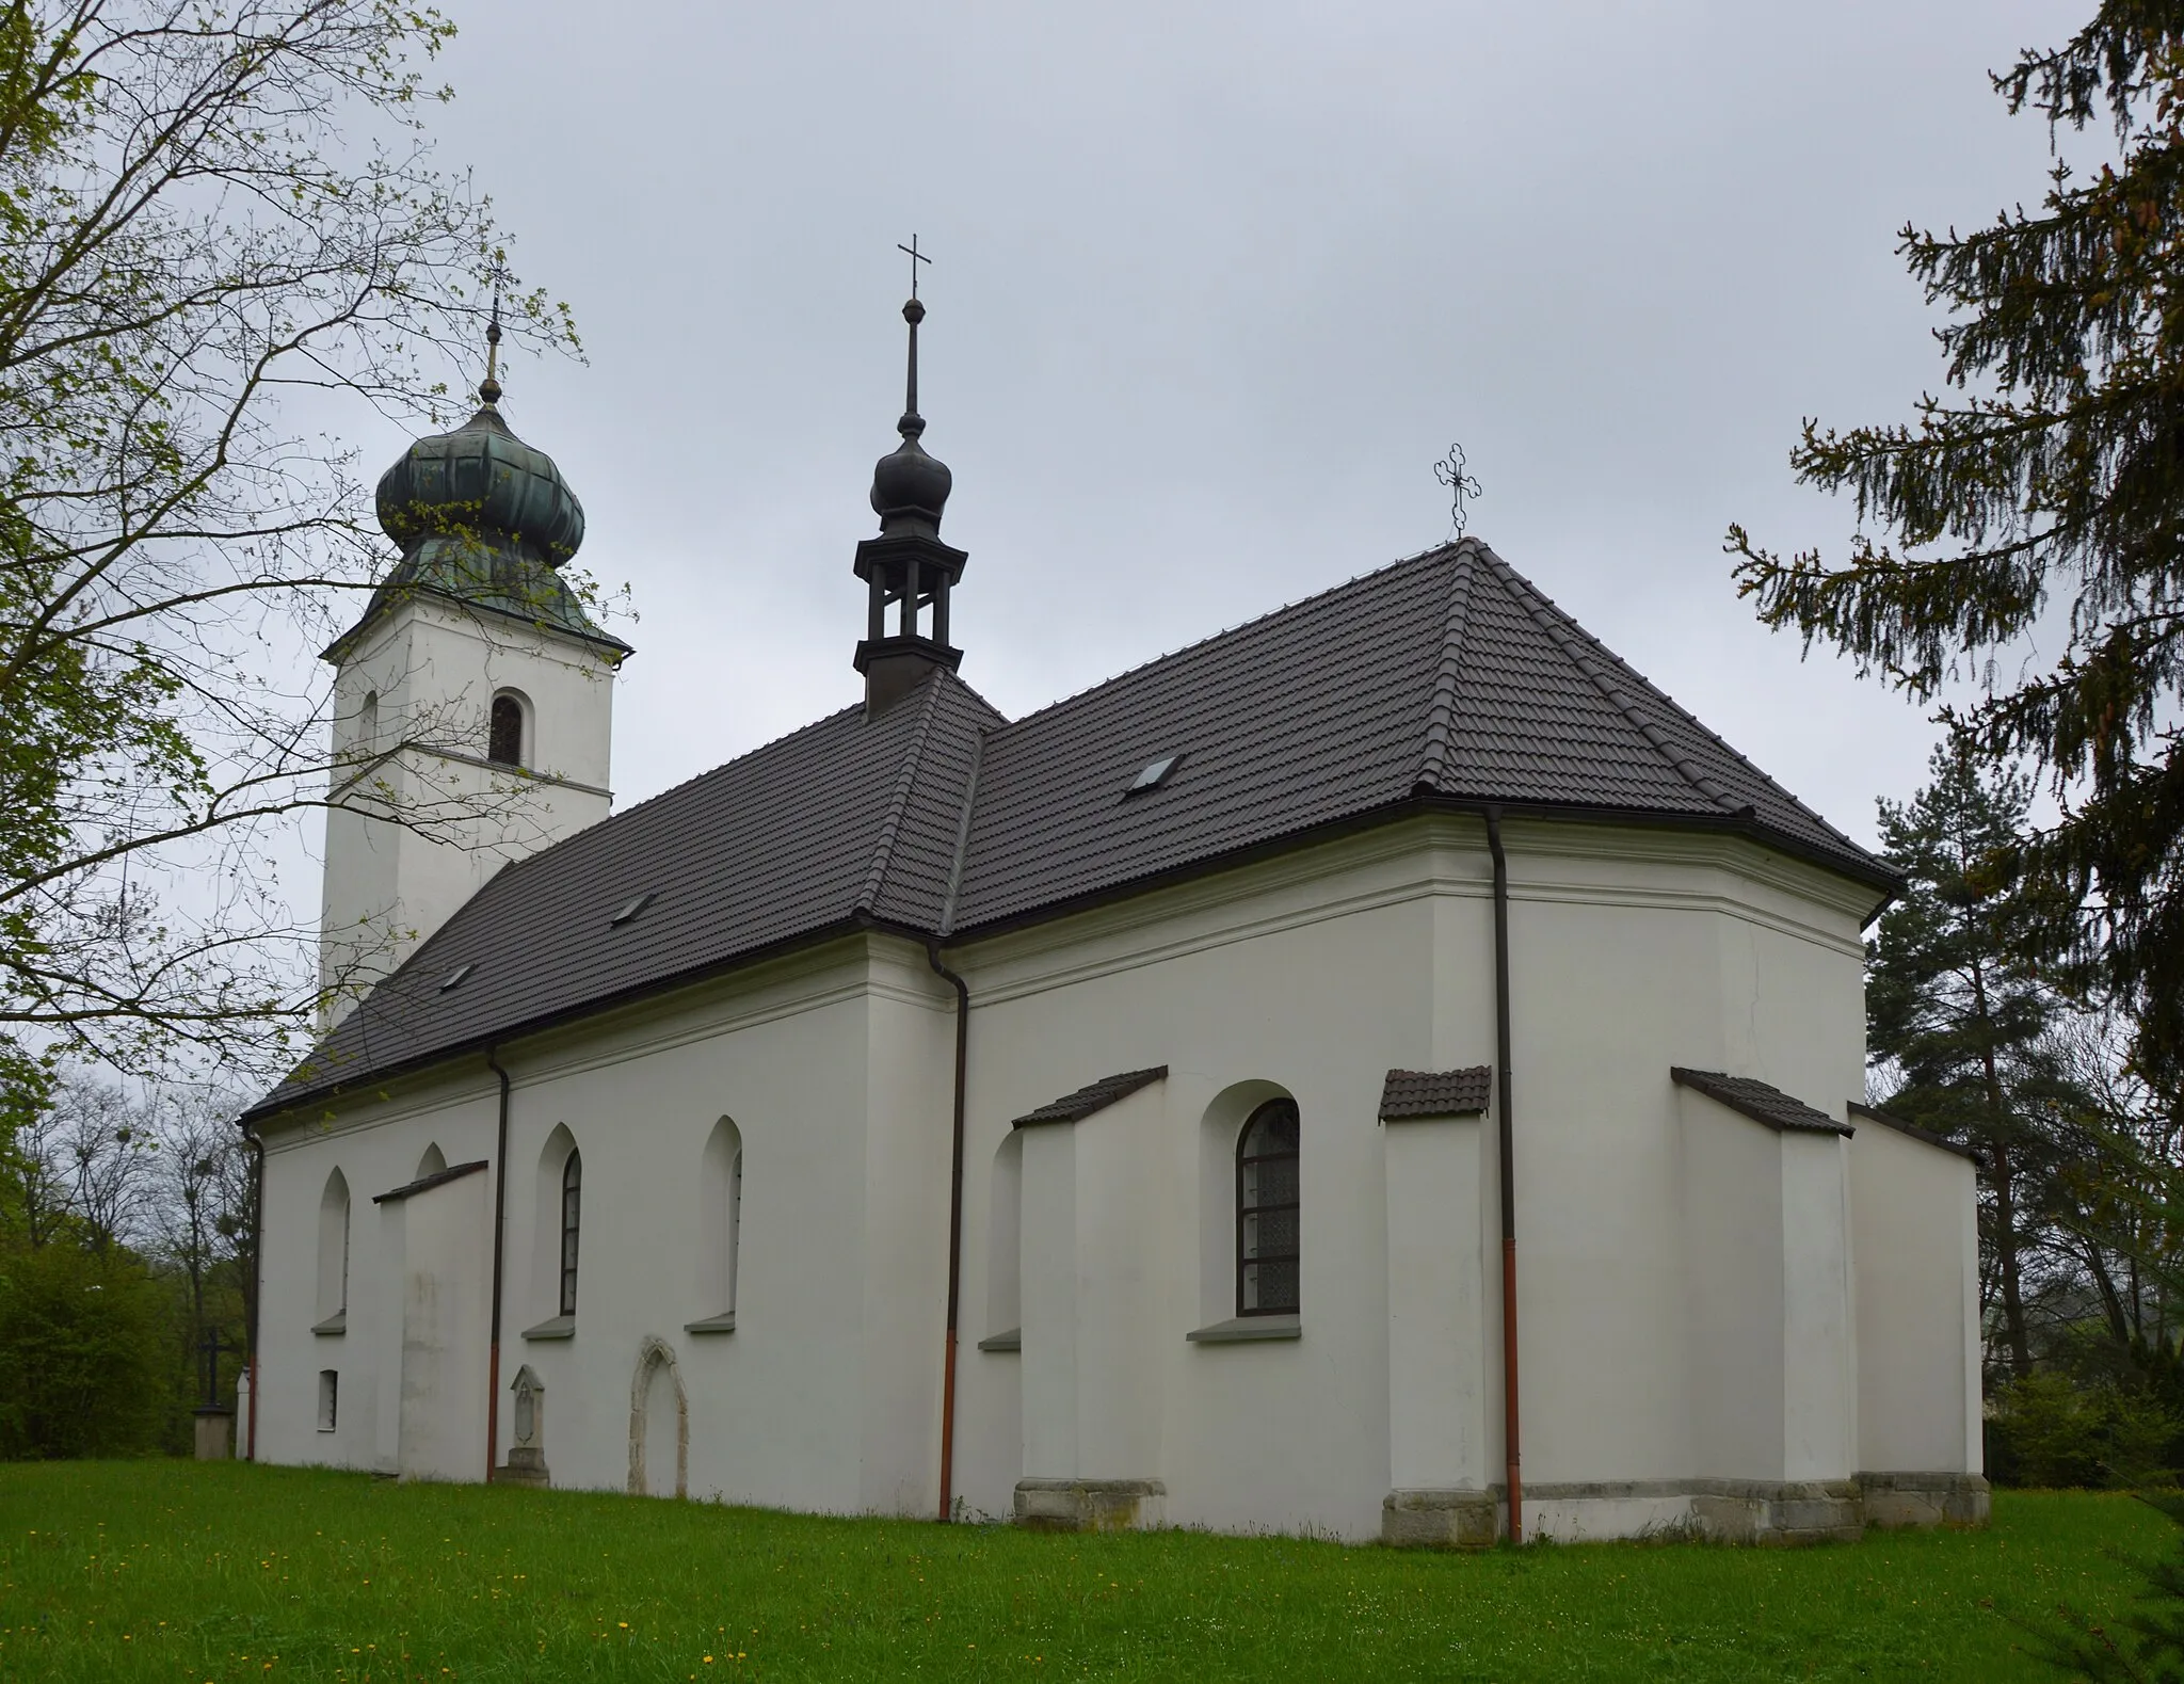
[[(1900, 251), (1942, 306), (1948, 400), (1913, 424), (1808, 422), (1797, 476), (1852, 491), (1848, 559), (1771, 555), (1741, 526), (1760, 618), (1824, 640), (1990, 764), (2053, 780), (2062, 819), (2011, 850), (2044, 885), (2031, 933), (2127, 1000), (2140, 1057), (2184, 1068), (2184, 0), (2108, 0), (1994, 76), (2053, 135), (2105, 120), (2116, 157), (2055, 164), (2038, 212)], [(1885, 537), (1863, 529), (1872, 524)], [(2031, 633), (2055, 649), (2042, 671)], [(2051, 642), (2053, 640), (2053, 642)], [(2020, 681), (2014, 681), (2014, 677)]]

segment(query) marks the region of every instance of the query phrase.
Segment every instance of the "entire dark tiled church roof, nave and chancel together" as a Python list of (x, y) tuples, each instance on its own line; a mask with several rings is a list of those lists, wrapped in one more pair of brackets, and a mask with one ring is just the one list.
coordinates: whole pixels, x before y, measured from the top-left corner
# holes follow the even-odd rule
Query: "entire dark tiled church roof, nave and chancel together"
[(592, 826), (500, 871), (260, 1110), (858, 920), (965, 939), (1431, 799), (1741, 830), (1894, 882), (1468, 539), (1016, 723), (939, 673)]

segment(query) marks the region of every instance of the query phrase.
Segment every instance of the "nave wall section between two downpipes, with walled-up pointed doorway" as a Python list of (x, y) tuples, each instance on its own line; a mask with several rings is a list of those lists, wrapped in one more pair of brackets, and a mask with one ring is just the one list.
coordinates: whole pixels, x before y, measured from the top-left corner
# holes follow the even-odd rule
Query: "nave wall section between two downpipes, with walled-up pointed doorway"
[[(952, 1022), (913, 957), (845, 944), (509, 1055), (502, 1367), (546, 1385), (555, 1485), (627, 1487), (631, 1380), (660, 1339), (692, 1496), (933, 1507)], [(557, 1131), (583, 1153), (574, 1328), (526, 1341), (559, 1313)], [(690, 1330), (725, 1308), (714, 1206), (736, 1186), (734, 1330)]]

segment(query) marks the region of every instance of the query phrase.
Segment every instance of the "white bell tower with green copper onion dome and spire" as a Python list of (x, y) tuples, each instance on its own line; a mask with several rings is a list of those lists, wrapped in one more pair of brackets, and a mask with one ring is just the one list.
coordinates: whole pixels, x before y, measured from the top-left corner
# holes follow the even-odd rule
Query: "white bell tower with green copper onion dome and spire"
[(509, 861), (607, 817), (614, 673), (561, 577), (583, 505), (500, 417), (498, 299), (478, 413), (378, 487), (400, 559), (323, 653), (334, 773), (319, 920), (321, 1029)]

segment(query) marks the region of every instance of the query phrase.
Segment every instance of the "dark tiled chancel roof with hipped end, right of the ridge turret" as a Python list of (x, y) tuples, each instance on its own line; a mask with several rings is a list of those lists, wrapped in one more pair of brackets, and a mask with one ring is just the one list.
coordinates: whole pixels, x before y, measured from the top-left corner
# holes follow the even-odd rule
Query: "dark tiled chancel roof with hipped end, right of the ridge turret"
[[(1173, 778), (1125, 797), (1171, 754), (1186, 754)], [(1889, 880), (1509, 564), (1465, 542), (994, 732), (954, 933), (1422, 793), (1728, 823)]]

